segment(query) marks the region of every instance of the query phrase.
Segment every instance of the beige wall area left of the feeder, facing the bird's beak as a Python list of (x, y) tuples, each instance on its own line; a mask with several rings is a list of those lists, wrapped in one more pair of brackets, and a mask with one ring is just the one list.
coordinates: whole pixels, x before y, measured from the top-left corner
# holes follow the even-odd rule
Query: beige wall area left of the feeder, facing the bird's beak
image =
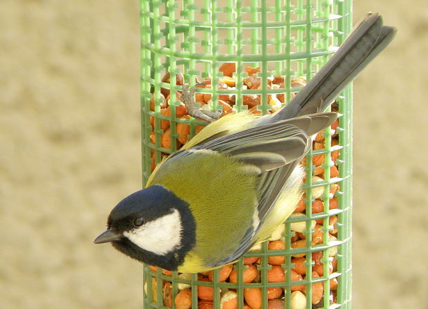
[(0, 307), (139, 308), (141, 266), (92, 243), (141, 187), (137, 1), (0, 7)]

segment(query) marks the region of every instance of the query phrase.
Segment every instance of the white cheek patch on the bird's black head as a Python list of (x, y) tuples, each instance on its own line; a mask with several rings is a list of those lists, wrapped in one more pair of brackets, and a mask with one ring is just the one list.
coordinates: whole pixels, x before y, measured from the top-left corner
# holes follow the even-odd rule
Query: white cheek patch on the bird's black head
[(124, 232), (124, 236), (140, 248), (157, 255), (166, 255), (181, 243), (182, 222), (178, 210)]

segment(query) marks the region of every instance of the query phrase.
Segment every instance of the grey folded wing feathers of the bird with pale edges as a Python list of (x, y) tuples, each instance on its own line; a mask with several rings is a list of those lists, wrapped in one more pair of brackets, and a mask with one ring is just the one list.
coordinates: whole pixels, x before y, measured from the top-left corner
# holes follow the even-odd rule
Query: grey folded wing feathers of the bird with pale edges
[(254, 245), (257, 230), (287, 186), (287, 179), (295, 166), (309, 151), (311, 135), (331, 125), (336, 117), (337, 114), (329, 112), (278, 121), (228, 134), (192, 148), (230, 155), (233, 159), (244, 162), (249, 173), (258, 175), (258, 223), (249, 226), (234, 252), (208, 266), (235, 261)]

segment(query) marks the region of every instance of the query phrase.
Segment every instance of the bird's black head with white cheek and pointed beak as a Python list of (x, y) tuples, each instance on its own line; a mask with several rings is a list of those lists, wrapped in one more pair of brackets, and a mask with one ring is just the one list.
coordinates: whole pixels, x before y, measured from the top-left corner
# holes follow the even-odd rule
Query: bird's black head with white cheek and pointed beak
[(195, 245), (195, 219), (188, 203), (163, 186), (150, 186), (120, 201), (95, 243), (111, 242), (125, 255), (176, 270)]

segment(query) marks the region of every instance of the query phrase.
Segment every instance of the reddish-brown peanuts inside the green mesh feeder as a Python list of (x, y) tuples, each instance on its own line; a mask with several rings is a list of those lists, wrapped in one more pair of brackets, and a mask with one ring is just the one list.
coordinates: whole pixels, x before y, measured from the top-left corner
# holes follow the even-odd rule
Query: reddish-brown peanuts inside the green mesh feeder
[[(246, 68), (245, 69), (248, 77), (243, 81), (244, 88), (247, 89), (260, 89), (260, 77), (257, 77), (257, 72), (260, 72), (260, 68)], [(223, 73), (224, 77), (220, 77), (219, 88), (221, 89), (235, 89), (236, 82), (233, 78), (233, 72), (235, 72), (234, 63), (224, 63), (220, 67), (220, 72)], [(169, 82), (169, 75), (167, 74), (163, 81)], [(177, 85), (183, 84), (182, 74), (177, 74), (176, 77)], [(205, 88), (211, 88), (211, 79), (205, 79), (202, 81), (205, 85)], [(306, 84), (306, 80), (303, 78), (291, 79), (291, 87), (302, 87)], [(271, 77), (267, 81), (267, 86), (269, 89), (280, 89), (284, 88), (284, 78), (283, 77)], [(203, 86), (201, 86), (203, 87)], [(295, 94), (292, 94), (293, 97)], [(201, 106), (210, 106), (211, 105), (211, 94), (196, 93), (195, 101), (199, 102)], [(161, 113), (169, 114), (169, 90), (162, 88), (162, 100), (161, 104)], [(177, 92), (177, 98), (179, 98), (179, 93)], [(271, 112), (279, 110), (284, 103), (284, 94), (269, 94), (267, 103), (270, 106)], [(243, 103), (247, 105), (251, 112), (261, 113), (257, 110), (257, 106), (261, 103), (260, 94), (250, 94), (243, 96)], [(219, 105), (223, 107), (222, 116), (234, 112), (233, 105), (235, 104), (235, 96), (229, 94), (219, 94)], [(154, 101), (150, 102), (151, 109), (154, 110)], [(337, 105), (333, 104), (333, 110), (337, 111)], [(176, 117), (189, 119), (188, 114), (186, 114), (186, 108), (184, 105), (177, 106), (176, 108)], [(153, 124), (153, 122), (152, 122)], [(169, 137), (169, 121), (161, 121), (161, 128), (164, 130), (162, 135), (162, 147), (169, 148), (171, 146), (171, 137)], [(203, 127), (197, 126), (196, 133), (199, 132)], [(319, 155), (312, 155), (312, 175), (306, 175), (311, 177), (312, 183), (317, 183), (324, 181), (324, 168), (323, 163), (326, 159), (326, 155), (330, 155), (331, 162), (333, 165), (330, 167), (330, 178), (338, 177), (338, 167), (336, 166), (336, 160), (339, 157), (339, 140), (338, 140), (338, 121), (331, 126), (331, 147), (333, 150), (331, 153), (322, 153)], [(188, 135), (190, 133), (190, 126), (184, 123), (177, 123), (176, 125), (177, 133), (179, 138), (177, 139), (177, 145), (180, 146), (188, 141)], [(153, 134), (154, 137), (154, 134)], [(313, 141), (313, 150), (322, 150), (325, 148), (324, 143), (324, 131), (318, 133)], [(154, 142), (154, 140), (152, 140)], [(178, 148), (177, 146), (177, 148)], [(307, 157), (309, 158), (309, 157)], [(302, 165), (307, 166), (307, 158), (302, 160)], [(154, 156), (153, 156), (153, 168), (154, 168)], [(328, 179), (326, 179), (328, 180)], [(324, 202), (322, 197), (324, 197), (324, 190), (327, 190), (326, 186), (317, 186), (309, 189), (311, 190), (311, 213), (319, 214), (324, 212)], [(338, 208), (338, 199), (335, 197), (335, 193), (340, 190), (340, 187), (337, 183), (331, 184), (329, 187), (329, 206), (328, 209), (332, 210)], [(306, 194), (303, 195), (302, 199), (298, 203), (297, 208), (295, 209), (292, 218), (294, 217), (306, 217), (307, 213), (307, 201)], [(317, 245), (326, 245), (324, 243), (324, 233), (327, 232), (327, 239), (329, 242), (337, 240), (338, 228), (335, 224), (338, 221), (337, 215), (331, 215), (327, 219), (328, 225), (324, 226), (324, 219), (317, 219), (312, 221), (293, 221), (291, 223), (292, 237), (291, 248), (307, 248), (307, 222), (311, 224), (311, 248)], [(285, 226), (280, 226), (269, 239), (267, 245), (268, 250), (285, 250), (286, 241), (284, 238), (284, 228)], [(251, 252), (255, 253), (257, 250), (260, 250), (259, 246), (251, 249)], [(311, 254), (311, 278), (317, 279), (324, 276), (324, 264), (322, 261), (328, 261), (327, 269), (329, 270), (329, 275), (335, 273), (338, 267), (338, 260), (336, 255), (338, 252), (337, 247), (331, 247), (327, 250), (328, 257), (323, 258), (323, 250), (315, 251)], [(267, 270), (267, 281), (272, 283), (280, 283), (286, 281), (286, 272), (282, 266), (286, 264), (286, 258), (284, 255), (274, 255), (267, 257), (270, 270)], [(259, 267), (261, 259), (259, 257), (244, 257), (244, 270), (242, 273), (242, 282), (243, 283), (257, 283), (260, 282), (260, 270)], [(291, 272), (290, 277), (291, 281), (304, 281), (307, 276), (307, 254), (299, 253), (291, 255)], [(150, 266), (155, 275), (157, 268)], [(171, 276), (172, 272), (169, 270), (162, 270), (163, 274), (166, 276)], [(329, 280), (329, 303), (336, 302), (336, 292), (338, 288), (338, 277), (333, 276), (333, 279), (327, 279), (329, 275), (326, 275), (325, 280)], [(179, 273), (179, 279), (183, 279), (187, 283), (191, 281), (191, 274)], [(197, 274), (198, 281), (213, 281), (213, 271), (202, 272)], [(172, 279), (172, 278), (171, 278)], [(150, 282), (150, 281), (149, 281)], [(237, 308), (237, 270), (234, 269), (234, 264), (226, 265), (220, 269), (220, 282), (231, 283), (231, 288), (221, 288), (221, 306), (222, 309), (238, 309)], [(173, 298), (173, 287), (170, 281), (162, 281), (163, 285), (163, 305), (172, 308), (173, 303), (175, 303), (175, 308), (177, 309), (190, 309), (191, 308), (191, 286), (187, 283), (178, 283), (178, 292)], [(235, 283), (235, 285), (233, 284)], [(156, 279), (152, 277), (153, 292), (156, 290)], [(312, 308), (323, 308), (324, 306), (324, 281), (317, 281), (311, 283), (311, 302)], [(235, 286), (235, 288), (233, 288)], [(297, 284), (290, 287), (291, 298), (290, 306), (291, 309), (304, 309), (307, 308), (307, 286), (308, 284)], [(145, 286), (147, 292), (147, 286)], [(279, 309), (284, 308), (284, 297), (286, 293), (284, 288), (268, 288), (267, 289), (267, 299), (268, 299), (268, 309)], [(260, 309), (262, 308), (262, 289), (260, 288), (244, 288), (244, 309)], [(211, 309), (213, 308), (213, 299), (214, 299), (214, 288), (211, 286), (198, 286), (197, 287), (197, 298), (198, 298), (198, 307), (200, 309)], [(153, 299), (156, 297), (153, 295)]]

